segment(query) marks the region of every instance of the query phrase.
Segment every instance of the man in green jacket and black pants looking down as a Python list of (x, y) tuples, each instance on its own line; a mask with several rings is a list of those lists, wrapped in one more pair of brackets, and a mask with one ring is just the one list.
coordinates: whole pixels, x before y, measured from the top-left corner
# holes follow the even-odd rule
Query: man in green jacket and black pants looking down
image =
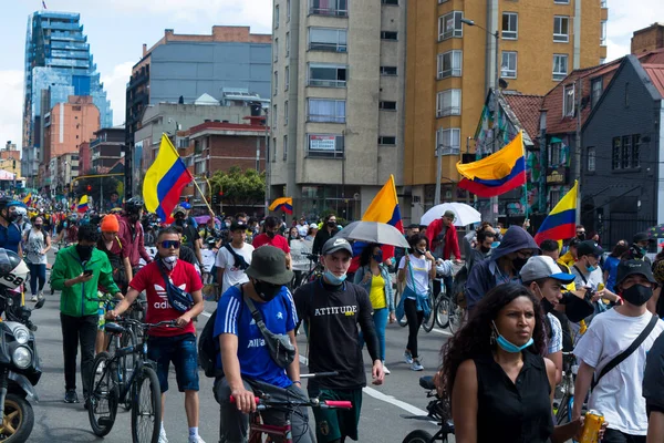
[(106, 254), (95, 248), (96, 227), (83, 225), (79, 229), (79, 243), (61, 249), (51, 271), (51, 287), (60, 295), (60, 323), (62, 326), (62, 351), (64, 354), (64, 402), (77, 403), (76, 357), (81, 343), (81, 379), (83, 398), (87, 398), (87, 384), (94, 362), (94, 343), (97, 330), (97, 286), (123, 298), (113, 281), (113, 268)]

